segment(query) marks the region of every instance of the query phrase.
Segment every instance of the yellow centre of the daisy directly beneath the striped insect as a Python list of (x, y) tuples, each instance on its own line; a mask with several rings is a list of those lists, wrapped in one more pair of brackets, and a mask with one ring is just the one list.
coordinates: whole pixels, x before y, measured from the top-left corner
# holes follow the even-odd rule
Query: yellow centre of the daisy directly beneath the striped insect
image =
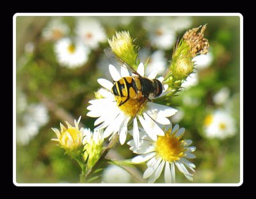
[[(116, 104), (117, 106), (126, 100), (126, 97), (116, 97)], [(143, 99), (129, 99), (127, 102), (122, 104), (121, 106), (118, 106), (120, 110), (128, 116), (133, 117), (136, 114), (141, 114), (143, 109), (145, 108), (146, 100)]]

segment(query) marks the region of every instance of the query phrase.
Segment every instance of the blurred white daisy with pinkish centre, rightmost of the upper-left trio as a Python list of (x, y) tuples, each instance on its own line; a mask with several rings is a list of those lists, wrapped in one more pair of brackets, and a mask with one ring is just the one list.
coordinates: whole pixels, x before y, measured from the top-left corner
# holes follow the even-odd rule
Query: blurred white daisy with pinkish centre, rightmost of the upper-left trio
[(99, 42), (107, 40), (104, 28), (96, 19), (77, 19), (76, 34), (85, 45), (92, 49), (97, 49)]

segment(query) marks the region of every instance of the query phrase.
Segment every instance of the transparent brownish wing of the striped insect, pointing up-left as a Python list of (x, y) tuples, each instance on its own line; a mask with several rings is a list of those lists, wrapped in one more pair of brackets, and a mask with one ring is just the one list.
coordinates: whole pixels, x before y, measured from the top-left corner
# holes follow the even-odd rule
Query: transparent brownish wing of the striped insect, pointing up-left
[(104, 52), (108, 56), (109, 60), (115, 65), (115, 67), (125, 67), (129, 70), (129, 72), (136, 74), (137, 76), (140, 76), (136, 70), (134, 70), (131, 66), (129, 66), (124, 60), (122, 60), (119, 56), (115, 54), (115, 52), (109, 50), (109, 49), (104, 49)]

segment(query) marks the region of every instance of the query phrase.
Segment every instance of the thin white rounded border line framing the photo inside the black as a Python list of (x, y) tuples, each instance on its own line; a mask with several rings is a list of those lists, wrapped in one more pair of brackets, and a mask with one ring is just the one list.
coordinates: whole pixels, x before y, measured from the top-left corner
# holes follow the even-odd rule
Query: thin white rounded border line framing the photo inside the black
[[(95, 184), (16, 182), (16, 18), (19, 16), (236, 16), (240, 18), (240, 182), (175, 184)], [(15, 13), (13, 15), (13, 184), (15, 186), (241, 186), (243, 184), (243, 15), (241, 13)]]

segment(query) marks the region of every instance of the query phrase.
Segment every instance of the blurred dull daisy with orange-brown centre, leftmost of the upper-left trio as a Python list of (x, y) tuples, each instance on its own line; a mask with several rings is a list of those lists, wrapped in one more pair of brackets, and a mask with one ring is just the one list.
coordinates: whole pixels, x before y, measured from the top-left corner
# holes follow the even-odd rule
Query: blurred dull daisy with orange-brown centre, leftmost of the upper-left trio
[(42, 36), (45, 40), (59, 40), (63, 36), (68, 35), (69, 28), (61, 22), (61, 19), (52, 19), (42, 31)]

